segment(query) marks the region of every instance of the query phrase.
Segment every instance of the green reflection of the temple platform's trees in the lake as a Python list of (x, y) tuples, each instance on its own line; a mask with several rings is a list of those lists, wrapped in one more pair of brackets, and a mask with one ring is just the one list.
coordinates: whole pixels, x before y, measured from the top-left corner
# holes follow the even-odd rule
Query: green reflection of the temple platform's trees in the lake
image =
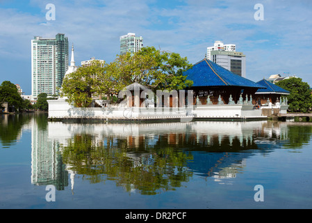
[(104, 144), (96, 145), (95, 137), (90, 134), (76, 134), (65, 146), (63, 159), (91, 183), (115, 180), (127, 191), (136, 189), (142, 194), (174, 190), (192, 176), (185, 167), (191, 157), (182, 151), (167, 147), (145, 151), (145, 155), (141, 152), (128, 148), (126, 139), (117, 139), (115, 146), (107, 148)]

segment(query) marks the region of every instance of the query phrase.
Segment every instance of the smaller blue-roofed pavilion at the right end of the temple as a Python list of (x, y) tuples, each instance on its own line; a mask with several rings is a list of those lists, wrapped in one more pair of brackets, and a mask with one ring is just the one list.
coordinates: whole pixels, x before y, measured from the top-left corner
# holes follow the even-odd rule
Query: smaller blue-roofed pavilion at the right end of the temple
[(261, 84), (264, 86), (264, 89), (258, 89), (256, 91), (256, 97), (254, 98), (254, 102), (258, 104), (259, 102), (261, 105), (265, 104), (270, 100), (272, 104), (276, 104), (277, 102), (281, 102), (281, 97), (289, 95), (290, 92), (282, 89), (280, 86), (277, 86), (266, 79), (262, 79), (257, 84)]

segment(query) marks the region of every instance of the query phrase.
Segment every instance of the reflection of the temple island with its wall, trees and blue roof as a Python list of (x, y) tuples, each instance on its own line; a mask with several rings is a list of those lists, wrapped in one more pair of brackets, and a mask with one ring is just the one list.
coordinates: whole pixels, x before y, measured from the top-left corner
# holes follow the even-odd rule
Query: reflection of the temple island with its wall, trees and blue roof
[[(67, 162), (71, 165), (67, 170), (73, 170), (72, 186), (74, 174), (90, 174), (90, 180), (96, 182), (107, 176), (129, 192), (146, 192), (147, 179), (155, 180), (147, 183), (147, 189), (168, 189), (171, 187), (158, 187), (157, 179), (167, 182), (174, 178), (176, 182), (183, 176), (179, 180), (187, 182), (192, 174), (211, 177), (217, 183), (232, 183), (229, 180), (244, 171), (245, 160), (257, 153), (270, 153), (272, 138), (286, 139), (287, 125), (266, 121), (88, 125), (51, 122), (48, 132), (49, 140), (58, 141), (61, 153), (69, 157)], [(85, 147), (87, 141), (89, 147)], [(79, 157), (83, 158), (76, 160), (76, 153), (86, 156), (81, 154)], [(159, 168), (160, 162), (165, 168)], [(101, 176), (96, 176), (95, 170)]]

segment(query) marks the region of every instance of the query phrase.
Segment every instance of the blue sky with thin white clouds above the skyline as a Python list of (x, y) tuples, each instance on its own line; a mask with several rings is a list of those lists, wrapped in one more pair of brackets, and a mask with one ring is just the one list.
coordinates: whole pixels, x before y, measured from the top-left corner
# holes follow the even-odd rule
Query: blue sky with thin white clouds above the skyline
[[(46, 5), (56, 20), (46, 20)], [(254, 20), (256, 3), (264, 20)], [(311, 0), (0, 0), (0, 83), (31, 94), (31, 39), (65, 33), (75, 61), (95, 56), (111, 62), (120, 36), (136, 33), (145, 46), (177, 52), (191, 63), (204, 59), (215, 40), (236, 44), (254, 82), (289, 72), (312, 86)]]

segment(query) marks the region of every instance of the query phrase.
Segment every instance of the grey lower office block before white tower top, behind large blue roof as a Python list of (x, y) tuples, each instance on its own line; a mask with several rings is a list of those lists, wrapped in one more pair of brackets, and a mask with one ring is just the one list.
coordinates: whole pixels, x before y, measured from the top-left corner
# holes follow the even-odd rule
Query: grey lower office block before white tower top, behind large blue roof
[(246, 77), (246, 56), (242, 52), (213, 50), (211, 61), (240, 77)]

